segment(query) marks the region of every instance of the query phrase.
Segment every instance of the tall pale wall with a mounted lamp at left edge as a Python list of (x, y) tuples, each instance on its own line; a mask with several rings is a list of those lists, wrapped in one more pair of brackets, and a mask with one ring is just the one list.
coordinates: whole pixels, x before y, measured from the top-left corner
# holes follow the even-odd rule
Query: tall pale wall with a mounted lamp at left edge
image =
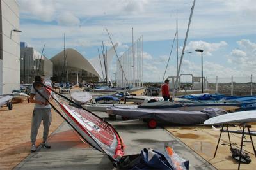
[(15, 0), (0, 0), (0, 94), (20, 88), (20, 18)]

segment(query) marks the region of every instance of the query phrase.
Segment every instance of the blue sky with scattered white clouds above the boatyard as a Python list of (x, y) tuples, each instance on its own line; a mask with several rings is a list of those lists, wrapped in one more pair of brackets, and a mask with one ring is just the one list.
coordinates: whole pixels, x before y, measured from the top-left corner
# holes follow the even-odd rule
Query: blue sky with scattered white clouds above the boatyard
[[(143, 81), (162, 81), (176, 32), (178, 10), (179, 59), (193, 0), (18, 0), (20, 41), (25, 41), (50, 59), (66, 48), (74, 48), (86, 59), (97, 56), (102, 41), (108, 48), (118, 42), (118, 55), (143, 35)], [(188, 34), (181, 73), (201, 75), (209, 81), (230, 79), (256, 81), (256, 1), (197, 0)], [(177, 75), (176, 44), (166, 76)], [(116, 57), (109, 67), (116, 72)]]

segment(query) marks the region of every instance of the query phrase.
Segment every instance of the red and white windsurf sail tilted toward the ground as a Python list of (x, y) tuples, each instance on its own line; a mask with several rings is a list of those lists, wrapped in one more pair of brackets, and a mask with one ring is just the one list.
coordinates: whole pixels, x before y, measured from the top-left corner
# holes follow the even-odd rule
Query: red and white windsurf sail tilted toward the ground
[[(36, 89), (36, 83), (39, 83), (47, 89), (49, 96), (52, 97), (56, 104), (52, 104), (49, 101), (49, 97), (42, 95), (42, 93)], [(83, 106), (74, 103), (72, 100), (68, 99), (68, 97), (52, 90), (51, 87), (44, 85), (43, 83), (35, 82), (33, 83), (33, 87), (40, 96), (51, 104), (52, 108), (65, 119), (65, 121), (81, 136), (81, 138), (84, 139), (84, 141), (96, 150), (106, 153), (109, 159), (113, 162), (118, 162), (121, 159), (124, 155), (124, 145), (118, 132), (116, 132), (115, 128), (111, 124), (104, 121), (104, 119), (95, 115), (91, 111), (86, 110)], [(61, 101), (57, 96), (62, 97), (69, 103), (75, 104), (77, 108)]]

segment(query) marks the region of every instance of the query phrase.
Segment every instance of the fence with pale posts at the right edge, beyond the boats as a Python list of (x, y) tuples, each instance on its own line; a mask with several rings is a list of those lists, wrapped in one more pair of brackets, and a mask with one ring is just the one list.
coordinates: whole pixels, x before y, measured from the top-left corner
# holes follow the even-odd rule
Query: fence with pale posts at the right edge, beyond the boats
[(256, 77), (250, 75), (207, 78), (207, 89), (231, 96), (256, 95)]

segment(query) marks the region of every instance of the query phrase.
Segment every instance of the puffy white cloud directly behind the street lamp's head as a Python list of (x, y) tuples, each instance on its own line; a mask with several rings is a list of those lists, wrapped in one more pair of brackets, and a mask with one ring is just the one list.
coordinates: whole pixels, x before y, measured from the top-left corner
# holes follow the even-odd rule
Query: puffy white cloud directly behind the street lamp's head
[(225, 41), (220, 41), (220, 43), (208, 43), (205, 41), (190, 41), (186, 46), (188, 51), (195, 51), (197, 48), (204, 50), (205, 55), (212, 55), (212, 52), (219, 50), (227, 46), (228, 44)]

